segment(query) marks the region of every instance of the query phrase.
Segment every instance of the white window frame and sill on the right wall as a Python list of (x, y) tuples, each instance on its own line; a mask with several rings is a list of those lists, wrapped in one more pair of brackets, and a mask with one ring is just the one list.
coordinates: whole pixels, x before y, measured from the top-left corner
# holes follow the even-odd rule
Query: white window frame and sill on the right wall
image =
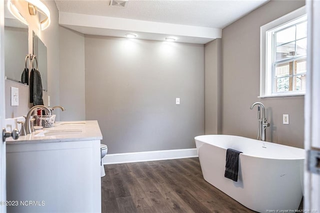
[[(305, 6), (303, 6), (260, 27), (260, 96), (258, 97), (294, 96), (305, 94), (305, 91), (273, 92), (272, 63), (267, 63), (267, 61), (272, 61), (272, 35), (270, 35), (270, 33), (272, 33), (272, 29), (278, 27), (285, 28), (291, 24), (288, 23), (289, 21), (300, 18), (305, 14), (306, 9)], [(269, 36), (267, 36), (268, 33)]]

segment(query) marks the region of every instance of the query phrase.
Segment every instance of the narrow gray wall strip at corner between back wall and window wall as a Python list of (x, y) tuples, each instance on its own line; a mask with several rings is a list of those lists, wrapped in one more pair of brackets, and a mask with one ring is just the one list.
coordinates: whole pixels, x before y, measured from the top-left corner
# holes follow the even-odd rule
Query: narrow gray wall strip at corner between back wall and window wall
[(204, 45), (204, 133), (221, 133), (222, 100), (221, 38)]

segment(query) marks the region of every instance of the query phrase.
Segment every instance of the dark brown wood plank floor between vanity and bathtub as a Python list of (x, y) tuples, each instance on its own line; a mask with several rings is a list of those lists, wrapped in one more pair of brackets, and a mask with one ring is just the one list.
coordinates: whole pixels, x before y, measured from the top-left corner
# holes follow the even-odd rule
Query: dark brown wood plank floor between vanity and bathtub
[(197, 157), (104, 168), (102, 212), (254, 212), (207, 183)]

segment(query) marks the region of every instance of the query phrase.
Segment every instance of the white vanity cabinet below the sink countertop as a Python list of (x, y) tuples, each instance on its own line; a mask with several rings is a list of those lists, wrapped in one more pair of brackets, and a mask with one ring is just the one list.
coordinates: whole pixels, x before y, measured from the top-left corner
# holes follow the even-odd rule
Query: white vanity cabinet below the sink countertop
[(101, 211), (102, 136), (99, 129), (85, 135), (92, 134), (85, 125), (80, 135), (23, 140), (27, 135), (7, 143), (6, 197), (17, 204), (7, 206), (8, 212)]

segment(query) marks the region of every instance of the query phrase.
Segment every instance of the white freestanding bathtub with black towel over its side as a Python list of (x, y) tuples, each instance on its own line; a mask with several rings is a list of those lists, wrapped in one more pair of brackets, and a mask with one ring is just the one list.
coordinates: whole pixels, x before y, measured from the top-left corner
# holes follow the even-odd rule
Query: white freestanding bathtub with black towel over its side
[[(194, 139), (207, 182), (258, 212), (298, 209), (304, 149), (234, 135)], [(243, 152), (239, 154), (237, 182), (224, 177), (227, 148)]]

